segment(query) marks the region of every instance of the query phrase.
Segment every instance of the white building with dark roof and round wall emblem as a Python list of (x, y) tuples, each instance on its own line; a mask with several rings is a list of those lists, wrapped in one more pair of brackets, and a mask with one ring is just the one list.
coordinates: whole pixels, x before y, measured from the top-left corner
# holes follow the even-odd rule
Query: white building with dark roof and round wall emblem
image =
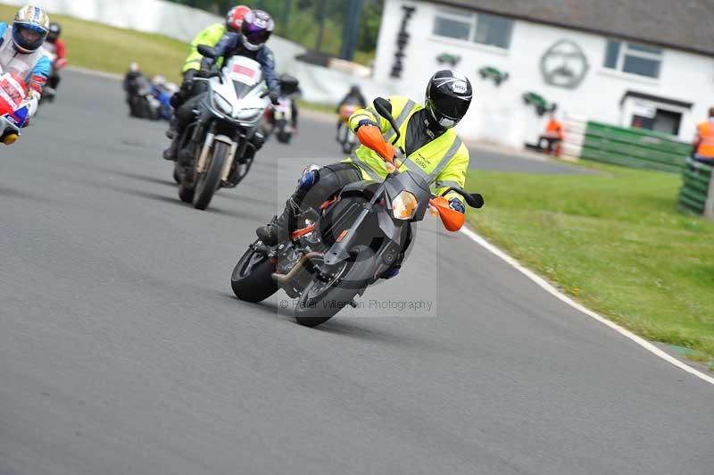
[(547, 120), (525, 104), (535, 93), (560, 117), (690, 140), (714, 106), (712, 24), (710, 0), (386, 0), (374, 75), (420, 98), (458, 58), (476, 91), (462, 137), (535, 142)]

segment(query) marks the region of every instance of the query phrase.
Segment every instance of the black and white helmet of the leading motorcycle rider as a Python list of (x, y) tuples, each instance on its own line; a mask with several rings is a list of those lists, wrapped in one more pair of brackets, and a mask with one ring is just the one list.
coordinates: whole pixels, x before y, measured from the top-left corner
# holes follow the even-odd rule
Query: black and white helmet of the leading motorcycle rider
[(426, 108), (430, 119), (442, 129), (451, 129), (463, 119), (471, 104), (473, 89), (463, 74), (443, 70), (429, 79)]

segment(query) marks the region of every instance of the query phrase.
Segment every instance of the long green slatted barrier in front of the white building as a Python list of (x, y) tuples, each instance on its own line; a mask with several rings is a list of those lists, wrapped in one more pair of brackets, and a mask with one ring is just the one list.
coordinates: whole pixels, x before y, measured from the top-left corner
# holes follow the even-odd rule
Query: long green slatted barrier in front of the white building
[(678, 141), (661, 132), (627, 129), (600, 122), (587, 122), (580, 158), (680, 173), (692, 144)]

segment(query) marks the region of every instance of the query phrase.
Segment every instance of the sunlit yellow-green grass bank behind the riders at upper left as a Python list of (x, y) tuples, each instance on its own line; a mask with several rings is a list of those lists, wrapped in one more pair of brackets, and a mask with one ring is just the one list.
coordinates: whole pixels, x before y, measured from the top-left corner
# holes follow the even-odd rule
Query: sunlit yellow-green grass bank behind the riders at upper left
[[(0, 5), (0, 18), (12, 22), (17, 10), (16, 6)], [(137, 62), (150, 76), (162, 74), (172, 81), (180, 78), (188, 54), (185, 43), (52, 13), (50, 19), (62, 24), (62, 38), (73, 66), (123, 74), (129, 63)]]

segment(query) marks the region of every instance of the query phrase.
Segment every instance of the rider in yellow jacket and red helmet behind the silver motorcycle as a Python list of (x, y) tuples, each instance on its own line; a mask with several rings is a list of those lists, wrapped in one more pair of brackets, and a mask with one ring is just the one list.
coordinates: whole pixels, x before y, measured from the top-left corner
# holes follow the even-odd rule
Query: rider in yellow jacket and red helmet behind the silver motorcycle
[(203, 55), (198, 53), (198, 46), (206, 45), (215, 47), (227, 31), (240, 31), (243, 17), (250, 11), (251, 9), (245, 5), (234, 6), (226, 14), (226, 21), (224, 23), (212, 24), (208, 28), (203, 29), (203, 31), (196, 35), (193, 41), (191, 41), (191, 44), (188, 46), (188, 57), (181, 70), (184, 78), (183, 82), (181, 83), (179, 91), (171, 96), (171, 106), (174, 109), (178, 109), (192, 96), (194, 78), (196, 73), (201, 69), (201, 61), (203, 60)]

